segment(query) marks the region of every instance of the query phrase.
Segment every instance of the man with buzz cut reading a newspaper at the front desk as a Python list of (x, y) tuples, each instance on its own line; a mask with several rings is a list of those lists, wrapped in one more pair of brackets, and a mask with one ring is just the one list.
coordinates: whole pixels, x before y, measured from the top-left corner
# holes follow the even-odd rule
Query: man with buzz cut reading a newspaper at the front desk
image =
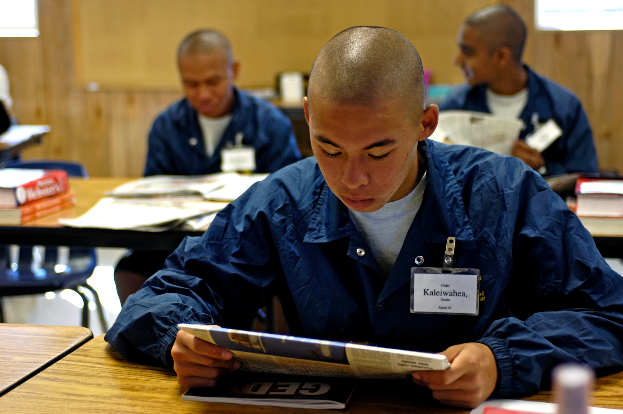
[[(255, 184), (183, 241), (108, 331), (122, 355), (211, 387), (239, 362), (177, 325), (244, 329), (277, 294), (293, 335), (444, 354), (450, 368), (412, 379), (449, 405), (536, 393), (561, 362), (623, 365), (623, 278), (525, 163), (426, 139), (439, 111), (424, 108), (406, 37), (340, 32), (304, 103), (315, 158)], [(422, 309), (429, 299), (411, 279), (447, 264), (478, 269), (480, 288), (452, 299), (477, 312)]]

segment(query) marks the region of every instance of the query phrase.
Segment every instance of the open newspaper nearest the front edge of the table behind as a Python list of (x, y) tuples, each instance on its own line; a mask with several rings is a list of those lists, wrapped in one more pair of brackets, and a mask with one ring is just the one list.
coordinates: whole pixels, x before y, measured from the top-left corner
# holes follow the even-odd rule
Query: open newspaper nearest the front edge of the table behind
[[(189, 219), (221, 211), (227, 204), (206, 201), (201, 197), (105, 197), (82, 216), (73, 219), (59, 219), (59, 222), (65, 226), (78, 228), (165, 231), (184, 224)], [(209, 223), (202, 224), (207, 228)], [(202, 225), (196, 226), (196, 228), (191, 226), (193, 230), (201, 228)]]

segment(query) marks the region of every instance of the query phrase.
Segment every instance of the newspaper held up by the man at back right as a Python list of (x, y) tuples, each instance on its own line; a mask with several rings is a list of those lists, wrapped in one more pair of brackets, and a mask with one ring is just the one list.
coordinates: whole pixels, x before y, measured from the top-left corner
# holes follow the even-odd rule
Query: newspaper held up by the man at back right
[(511, 155), (523, 121), (496, 117), (490, 113), (447, 110), (439, 113), (437, 129), (430, 140), (484, 148), (502, 155)]

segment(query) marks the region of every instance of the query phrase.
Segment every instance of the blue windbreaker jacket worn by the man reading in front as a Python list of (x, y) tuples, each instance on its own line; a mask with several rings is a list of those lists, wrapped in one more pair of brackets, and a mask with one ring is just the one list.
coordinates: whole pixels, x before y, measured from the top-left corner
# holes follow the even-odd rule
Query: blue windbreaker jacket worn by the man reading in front
[[(270, 175), (186, 238), (123, 306), (106, 340), (130, 360), (171, 367), (179, 323), (248, 327), (278, 294), (294, 335), (439, 352), (480, 342), (497, 395), (548, 384), (565, 362), (623, 365), (623, 277), (543, 178), (517, 158), (425, 140), (424, 200), (387, 279), (314, 158)], [(480, 314), (411, 314), (410, 269), (480, 269)], [(364, 256), (356, 249), (363, 248)]]

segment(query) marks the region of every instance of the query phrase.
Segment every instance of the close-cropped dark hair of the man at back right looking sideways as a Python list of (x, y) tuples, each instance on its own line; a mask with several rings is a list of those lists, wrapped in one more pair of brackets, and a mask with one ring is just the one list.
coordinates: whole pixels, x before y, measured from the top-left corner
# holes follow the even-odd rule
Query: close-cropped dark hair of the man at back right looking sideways
[(526, 42), (526, 25), (516, 11), (508, 6), (491, 6), (475, 12), (465, 21), (477, 29), (490, 50), (506, 46), (513, 52), (515, 62), (521, 62)]

